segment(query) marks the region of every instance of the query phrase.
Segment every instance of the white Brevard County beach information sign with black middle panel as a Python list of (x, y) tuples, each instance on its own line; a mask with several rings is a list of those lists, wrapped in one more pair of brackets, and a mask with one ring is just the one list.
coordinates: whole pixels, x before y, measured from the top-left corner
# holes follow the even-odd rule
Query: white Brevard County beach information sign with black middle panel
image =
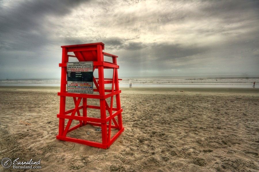
[(93, 62), (68, 62), (67, 91), (69, 93), (90, 93), (94, 92), (94, 63)]

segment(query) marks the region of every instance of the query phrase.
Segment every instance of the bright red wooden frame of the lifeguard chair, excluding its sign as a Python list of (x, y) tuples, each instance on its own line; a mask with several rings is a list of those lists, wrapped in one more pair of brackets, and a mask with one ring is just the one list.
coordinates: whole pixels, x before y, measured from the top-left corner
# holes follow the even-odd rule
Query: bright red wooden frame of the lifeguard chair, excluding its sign
[[(121, 90), (119, 90), (119, 80), (121, 79), (118, 79), (118, 56), (103, 52), (104, 43), (102, 42), (81, 45), (66, 45), (61, 47), (62, 63), (59, 64), (59, 67), (61, 67), (61, 85), (60, 92), (58, 92), (58, 95), (60, 96), (60, 111), (57, 115), (59, 118), (59, 132), (56, 138), (63, 141), (76, 142), (88, 146), (107, 149), (124, 131), (121, 115), (122, 108), (120, 103)], [(75, 55), (69, 55), (68, 52), (73, 52)], [(111, 57), (112, 62), (105, 62), (104, 56)], [(96, 87), (92, 88), (93, 94), (71, 93), (67, 91), (67, 63), (69, 57), (77, 58), (79, 62), (93, 62), (93, 71), (98, 69), (98, 78), (93, 76), (93, 83)], [(111, 79), (104, 78), (104, 69), (113, 70), (113, 77)], [(112, 85), (111, 89), (106, 89), (104, 87), (105, 84)], [(113, 103), (114, 96), (116, 107), (113, 107), (115, 106)], [(66, 110), (67, 97), (73, 98), (75, 108)], [(108, 100), (109, 98), (111, 98), (110, 101), (108, 101), (110, 106), (106, 101), (106, 99)], [(100, 106), (87, 104), (87, 99), (100, 100)], [(81, 102), (81, 100), (83, 101)], [(87, 114), (87, 109), (89, 108), (100, 110), (100, 118), (91, 117), (90, 113)], [(73, 120), (79, 121), (79, 124), (71, 127)], [(66, 125), (65, 121), (67, 121)], [(99, 133), (101, 133), (102, 141), (94, 142), (85, 139), (67, 137), (68, 132), (79, 127), (83, 127), (84, 125), (100, 127), (99, 130), (101, 130), (101, 132)], [(115, 133), (111, 138), (112, 129), (117, 133)]]

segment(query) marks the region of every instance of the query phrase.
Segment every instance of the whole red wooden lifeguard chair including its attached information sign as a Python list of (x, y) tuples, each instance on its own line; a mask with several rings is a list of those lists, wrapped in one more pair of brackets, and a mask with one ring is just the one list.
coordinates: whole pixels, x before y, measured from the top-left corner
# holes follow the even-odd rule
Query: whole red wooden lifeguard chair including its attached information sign
[[(59, 131), (56, 138), (107, 149), (124, 131), (118, 56), (103, 52), (102, 42), (61, 47)], [(104, 56), (111, 60), (104, 61)], [(76, 58), (78, 62), (69, 62), (69, 58)], [(111, 70), (111, 78), (104, 78), (104, 69)], [(94, 76), (95, 70), (98, 76)], [(91, 104), (96, 102), (91, 99), (98, 100), (98, 104)], [(69, 100), (74, 104), (73, 108), (71, 104), (66, 106)], [(76, 138), (79, 127), (87, 131)]]

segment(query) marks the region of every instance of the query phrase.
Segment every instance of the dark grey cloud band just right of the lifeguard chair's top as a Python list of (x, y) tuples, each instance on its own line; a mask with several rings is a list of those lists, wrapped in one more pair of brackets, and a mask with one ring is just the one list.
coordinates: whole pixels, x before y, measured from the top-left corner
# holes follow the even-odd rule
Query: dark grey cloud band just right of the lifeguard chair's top
[[(194, 58), (199, 56), (199, 54), (204, 54), (208, 51), (210, 51), (210, 47), (198, 48), (166, 43), (138, 43), (119, 54), (121, 55), (120, 60), (123, 60), (129, 66), (145, 70), (154, 70), (153, 66), (156, 66), (160, 70), (170, 70), (174, 68), (173, 66), (184, 66), (187, 64), (185, 60), (195, 60)], [(184, 60), (180, 60), (181, 62), (179, 63), (179, 59), (182, 58)], [(178, 61), (177, 64), (176, 61)], [(192, 62), (192, 64), (194, 63)]]

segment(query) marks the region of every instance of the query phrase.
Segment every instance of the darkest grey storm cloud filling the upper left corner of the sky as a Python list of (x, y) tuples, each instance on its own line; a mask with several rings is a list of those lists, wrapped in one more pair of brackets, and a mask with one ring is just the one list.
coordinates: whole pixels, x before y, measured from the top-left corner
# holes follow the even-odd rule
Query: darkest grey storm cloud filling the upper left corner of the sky
[(34, 49), (48, 43), (46, 16), (62, 16), (81, 1), (20, 1), (0, 7), (1, 47), (14, 50)]

